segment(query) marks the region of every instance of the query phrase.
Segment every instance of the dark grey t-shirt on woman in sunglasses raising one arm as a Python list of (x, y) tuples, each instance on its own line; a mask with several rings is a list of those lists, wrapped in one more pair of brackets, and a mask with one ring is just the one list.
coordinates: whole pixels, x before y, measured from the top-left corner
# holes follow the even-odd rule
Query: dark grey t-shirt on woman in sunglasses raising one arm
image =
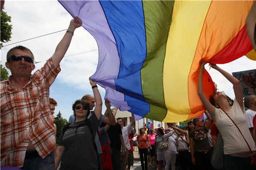
[[(95, 136), (99, 120), (94, 113), (89, 120)], [(82, 123), (84, 121), (70, 124), (70, 128), (60, 138), (59, 145), (65, 147), (61, 158), (60, 170), (98, 169), (98, 158), (90, 129), (87, 125), (78, 127)], [(63, 131), (61, 133), (63, 134)]]

